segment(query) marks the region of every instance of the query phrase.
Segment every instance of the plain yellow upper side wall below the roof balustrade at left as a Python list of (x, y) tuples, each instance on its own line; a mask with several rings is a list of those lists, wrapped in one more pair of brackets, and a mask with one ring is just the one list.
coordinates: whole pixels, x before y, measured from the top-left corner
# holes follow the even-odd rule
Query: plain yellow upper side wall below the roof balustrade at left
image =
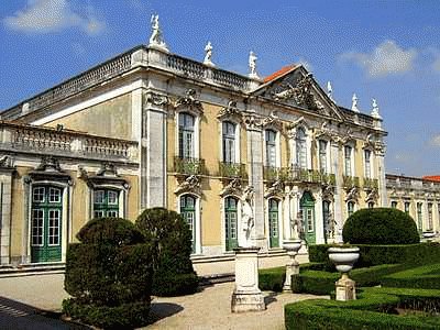
[(131, 140), (131, 94), (125, 94), (97, 106), (48, 122), (65, 129), (90, 134)]

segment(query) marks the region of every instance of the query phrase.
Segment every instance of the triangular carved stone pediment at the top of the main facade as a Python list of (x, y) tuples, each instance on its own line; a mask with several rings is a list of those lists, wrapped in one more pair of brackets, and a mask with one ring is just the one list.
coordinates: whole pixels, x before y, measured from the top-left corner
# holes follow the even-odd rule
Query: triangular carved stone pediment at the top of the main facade
[(338, 120), (343, 119), (334, 102), (304, 67), (276, 78), (257, 94), (277, 102), (305, 108)]

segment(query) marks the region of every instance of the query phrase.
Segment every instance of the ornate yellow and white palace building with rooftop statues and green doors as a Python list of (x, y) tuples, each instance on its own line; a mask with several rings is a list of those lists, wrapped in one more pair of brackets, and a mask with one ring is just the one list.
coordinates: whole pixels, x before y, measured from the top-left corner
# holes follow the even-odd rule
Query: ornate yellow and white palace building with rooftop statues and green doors
[(361, 113), (301, 65), (263, 79), (253, 53), (242, 76), (205, 51), (172, 54), (157, 19), (147, 46), (0, 113), (1, 265), (62, 263), (89, 219), (151, 207), (184, 216), (195, 257), (230, 255), (245, 191), (263, 253), (295, 222), (307, 244), (340, 241), (352, 212), (388, 205), (375, 102)]

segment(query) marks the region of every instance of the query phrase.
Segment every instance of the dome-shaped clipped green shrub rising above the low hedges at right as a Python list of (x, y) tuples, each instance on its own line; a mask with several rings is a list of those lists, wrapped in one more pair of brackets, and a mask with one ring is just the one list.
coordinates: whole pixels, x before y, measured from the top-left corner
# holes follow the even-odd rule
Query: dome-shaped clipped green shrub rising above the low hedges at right
[(420, 241), (413, 218), (394, 208), (354, 212), (346, 219), (342, 237), (350, 244), (414, 244)]

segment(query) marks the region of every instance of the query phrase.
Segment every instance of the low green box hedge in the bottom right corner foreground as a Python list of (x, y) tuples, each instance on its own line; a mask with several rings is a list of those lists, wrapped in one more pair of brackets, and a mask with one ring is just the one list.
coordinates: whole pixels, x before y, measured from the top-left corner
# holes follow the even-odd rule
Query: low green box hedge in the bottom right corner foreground
[(286, 329), (439, 329), (440, 318), (397, 316), (397, 307), (438, 310), (440, 290), (365, 288), (358, 300), (304, 300), (285, 306)]

